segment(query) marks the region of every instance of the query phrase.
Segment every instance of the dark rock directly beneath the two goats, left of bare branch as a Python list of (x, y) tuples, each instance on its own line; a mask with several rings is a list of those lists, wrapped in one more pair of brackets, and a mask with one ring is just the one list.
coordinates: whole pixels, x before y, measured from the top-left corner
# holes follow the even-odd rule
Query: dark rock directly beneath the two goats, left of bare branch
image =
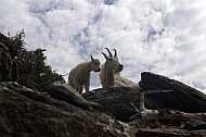
[(85, 92), (82, 97), (100, 103), (105, 113), (114, 115), (117, 120), (123, 122), (131, 121), (129, 117), (136, 114), (130, 102), (139, 105), (140, 91), (132, 90), (126, 87), (114, 87), (108, 89), (95, 89), (90, 92)]

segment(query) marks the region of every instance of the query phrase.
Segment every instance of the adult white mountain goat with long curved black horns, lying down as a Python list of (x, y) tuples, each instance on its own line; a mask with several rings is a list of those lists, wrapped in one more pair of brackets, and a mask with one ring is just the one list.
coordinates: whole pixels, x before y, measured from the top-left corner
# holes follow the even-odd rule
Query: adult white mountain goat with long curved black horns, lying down
[(140, 89), (140, 86), (132, 80), (129, 80), (123, 76), (120, 76), (120, 71), (123, 71), (123, 64), (119, 63), (119, 59), (117, 57), (117, 51), (114, 49), (114, 55), (111, 51), (105, 48), (110, 54), (107, 57), (105, 53), (103, 55), (106, 59), (106, 62), (102, 65), (100, 72), (100, 80), (103, 88), (117, 86), (117, 87), (129, 87), (131, 89)]

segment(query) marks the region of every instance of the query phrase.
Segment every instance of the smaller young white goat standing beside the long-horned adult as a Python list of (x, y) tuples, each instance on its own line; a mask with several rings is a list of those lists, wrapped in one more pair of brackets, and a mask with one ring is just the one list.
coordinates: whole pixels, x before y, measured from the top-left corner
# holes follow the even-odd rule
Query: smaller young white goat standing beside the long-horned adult
[(93, 59), (91, 55), (90, 62), (83, 62), (75, 66), (69, 75), (68, 82), (72, 87), (74, 87), (79, 94), (82, 94), (83, 87), (86, 92), (89, 91), (90, 86), (90, 72), (100, 72), (100, 60)]

